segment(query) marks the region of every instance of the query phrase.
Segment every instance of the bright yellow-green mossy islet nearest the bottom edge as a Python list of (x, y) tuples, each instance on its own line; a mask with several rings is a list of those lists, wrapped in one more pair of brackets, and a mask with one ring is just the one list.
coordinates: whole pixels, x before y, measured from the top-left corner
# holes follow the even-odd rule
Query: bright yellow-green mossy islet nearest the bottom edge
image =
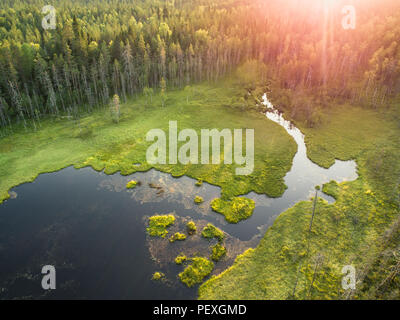
[(206, 258), (195, 257), (191, 261), (192, 263), (179, 274), (179, 279), (189, 288), (201, 283), (214, 269), (214, 263)]

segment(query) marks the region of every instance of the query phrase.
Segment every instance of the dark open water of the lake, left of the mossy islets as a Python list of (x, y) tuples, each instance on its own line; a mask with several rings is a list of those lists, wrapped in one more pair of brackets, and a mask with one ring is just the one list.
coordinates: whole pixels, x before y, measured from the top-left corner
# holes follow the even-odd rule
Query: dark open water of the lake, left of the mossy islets
[(54, 265), (54, 298), (193, 298), (183, 285), (151, 281), (144, 215), (184, 208), (166, 201), (140, 204), (110, 192), (92, 169), (44, 174), (14, 189), (0, 207), (0, 297), (40, 297), (41, 267)]

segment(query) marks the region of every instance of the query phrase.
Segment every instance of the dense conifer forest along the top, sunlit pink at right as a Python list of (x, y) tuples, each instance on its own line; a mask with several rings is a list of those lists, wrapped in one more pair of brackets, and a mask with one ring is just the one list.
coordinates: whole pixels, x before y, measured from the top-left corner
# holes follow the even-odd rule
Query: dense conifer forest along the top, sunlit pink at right
[(353, 1), (354, 30), (335, 26), (340, 1), (306, 2), (57, 0), (57, 27), (45, 30), (41, 1), (2, 1), (2, 134), (79, 117), (114, 95), (215, 81), (249, 59), (268, 66), (280, 108), (309, 126), (332, 99), (384, 108), (400, 85), (397, 2)]

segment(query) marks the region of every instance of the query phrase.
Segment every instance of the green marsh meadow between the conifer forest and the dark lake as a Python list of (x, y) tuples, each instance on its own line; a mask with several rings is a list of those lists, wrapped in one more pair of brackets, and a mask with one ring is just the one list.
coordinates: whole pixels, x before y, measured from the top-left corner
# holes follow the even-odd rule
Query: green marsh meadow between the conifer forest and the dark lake
[[(80, 127), (72, 120), (45, 120), (37, 132), (23, 128), (0, 140), (0, 202), (9, 197), (8, 190), (24, 182), (32, 182), (40, 173), (54, 172), (74, 165), (92, 166), (107, 174), (120, 171), (124, 175), (147, 171), (152, 167), (175, 177), (187, 175), (220, 186), (222, 196), (230, 198), (250, 191), (272, 197), (282, 195), (284, 176), (290, 169), (297, 150), (294, 140), (278, 124), (256, 112), (244, 116), (231, 107), (245, 92), (230, 81), (215, 85), (193, 86), (189, 103), (183, 91), (168, 92), (166, 107), (161, 107), (159, 95), (152, 105), (139, 96), (121, 105), (119, 124), (113, 123), (108, 109), (80, 119)], [(178, 122), (178, 130), (219, 130), (224, 128), (255, 129), (255, 168), (249, 176), (237, 176), (236, 165), (156, 165), (146, 162), (146, 141), (149, 130), (168, 132), (169, 121)], [(85, 129), (86, 130), (86, 129)], [(141, 164), (135, 166), (135, 164)]]

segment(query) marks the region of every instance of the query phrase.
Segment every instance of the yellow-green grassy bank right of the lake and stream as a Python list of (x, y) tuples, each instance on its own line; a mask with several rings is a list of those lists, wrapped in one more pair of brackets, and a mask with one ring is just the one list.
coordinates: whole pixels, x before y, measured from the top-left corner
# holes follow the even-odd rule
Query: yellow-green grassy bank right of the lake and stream
[(335, 158), (355, 159), (359, 178), (323, 187), (337, 200), (318, 200), (311, 232), (312, 201), (281, 213), (255, 249), (200, 287), (199, 298), (342, 298), (342, 267), (361, 272), (379, 261), (378, 240), (399, 217), (399, 118), (393, 110), (335, 106), (322, 125), (302, 128), (312, 161), (328, 167)]

